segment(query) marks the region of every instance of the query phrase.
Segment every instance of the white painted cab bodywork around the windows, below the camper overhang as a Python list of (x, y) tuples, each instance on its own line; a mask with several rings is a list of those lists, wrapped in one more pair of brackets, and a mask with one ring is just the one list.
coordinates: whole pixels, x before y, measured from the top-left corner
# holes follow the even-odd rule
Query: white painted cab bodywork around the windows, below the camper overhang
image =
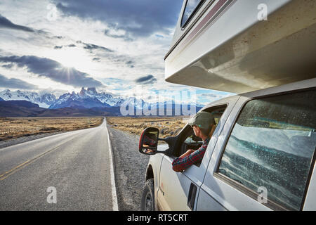
[[(316, 78), (308, 79), (292, 84), (230, 96), (202, 108), (202, 110), (207, 110), (219, 105), (228, 105), (220, 117), (218, 127), (214, 131), (199, 167), (192, 165), (192, 167), (186, 169), (184, 172), (176, 173), (173, 172), (171, 165), (175, 157), (169, 157), (162, 153), (150, 157), (149, 165), (152, 166), (155, 176), (155, 208), (157, 210), (191, 210), (187, 206), (187, 198), (190, 185), (194, 184), (197, 186), (197, 195), (193, 210), (272, 210), (271, 207), (260, 203), (256, 198), (251, 198), (251, 196), (235, 188), (232, 183), (225, 181), (225, 179), (222, 179), (216, 173), (221, 156), (225, 150), (225, 143), (227, 143), (230, 137), (230, 132), (234, 127), (237, 117), (248, 101), (256, 98), (309, 90), (315, 88), (315, 86)], [(185, 131), (185, 127), (181, 132)], [(181, 132), (178, 136), (181, 135)], [(159, 146), (159, 150), (165, 150), (166, 148), (168, 148), (167, 145)], [(303, 210), (316, 209), (315, 180), (316, 176), (313, 170)], [(282, 207), (279, 207), (279, 210), (282, 210)]]

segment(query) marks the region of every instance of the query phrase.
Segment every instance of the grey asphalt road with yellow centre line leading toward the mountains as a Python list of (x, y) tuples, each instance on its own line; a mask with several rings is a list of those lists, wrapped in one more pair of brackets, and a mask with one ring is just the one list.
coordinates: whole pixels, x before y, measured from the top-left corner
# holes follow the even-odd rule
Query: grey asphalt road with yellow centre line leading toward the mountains
[(106, 121), (1, 148), (0, 210), (113, 210), (110, 167)]

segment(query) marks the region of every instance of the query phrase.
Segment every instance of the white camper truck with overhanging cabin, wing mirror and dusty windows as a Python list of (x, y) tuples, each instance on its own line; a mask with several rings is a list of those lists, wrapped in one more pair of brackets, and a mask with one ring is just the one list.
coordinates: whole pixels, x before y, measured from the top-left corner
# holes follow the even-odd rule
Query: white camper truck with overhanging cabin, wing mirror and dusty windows
[(143, 131), (142, 209), (316, 210), (315, 40), (315, 0), (183, 1), (166, 81), (237, 95), (202, 108), (216, 129), (183, 172), (173, 160), (202, 146), (192, 127)]

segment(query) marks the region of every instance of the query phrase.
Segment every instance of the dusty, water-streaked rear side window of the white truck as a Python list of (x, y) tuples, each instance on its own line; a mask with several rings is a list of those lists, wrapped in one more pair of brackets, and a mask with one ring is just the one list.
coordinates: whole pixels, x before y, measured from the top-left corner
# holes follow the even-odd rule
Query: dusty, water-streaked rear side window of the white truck
[(258, 188), (265, 187), (272, 205), (301, 210), (315, 163), (315, 93), (310, 90), (246, 103), (217, 172), (257, 196)]

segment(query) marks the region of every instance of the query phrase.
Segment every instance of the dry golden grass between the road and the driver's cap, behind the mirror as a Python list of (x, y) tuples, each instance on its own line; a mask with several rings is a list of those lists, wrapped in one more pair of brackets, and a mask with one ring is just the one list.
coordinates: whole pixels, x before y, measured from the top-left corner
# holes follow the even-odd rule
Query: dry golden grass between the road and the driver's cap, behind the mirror
[(189, 117), (107, 117), (107, 123), (115, 129), (140, 135), (146, 127), (157, 127), (159, 137), (176, 136)]

